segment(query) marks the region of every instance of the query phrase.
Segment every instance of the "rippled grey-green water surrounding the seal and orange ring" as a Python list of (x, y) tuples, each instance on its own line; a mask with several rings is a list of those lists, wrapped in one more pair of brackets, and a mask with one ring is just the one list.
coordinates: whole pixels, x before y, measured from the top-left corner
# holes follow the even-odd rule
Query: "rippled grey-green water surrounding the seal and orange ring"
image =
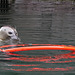
[[(16, 0), (9, 11), (0, 12), (2, 25), (15, 26), (24, 44), (75, 45), (75, 8), (70, 2)], [(75, 52), (1, 52), (0, 74), (75, 75)]]

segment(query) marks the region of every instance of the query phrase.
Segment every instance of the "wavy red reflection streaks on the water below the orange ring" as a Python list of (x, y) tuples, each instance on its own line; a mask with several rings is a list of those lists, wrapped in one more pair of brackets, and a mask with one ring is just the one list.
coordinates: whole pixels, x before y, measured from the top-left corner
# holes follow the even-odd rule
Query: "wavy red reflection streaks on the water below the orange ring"
[[(19, 55), (15, 53), (8, 53), (13, 57), (4, 58), (5, 60), (15, 61), (16, 64), (6, 64), (11, 68), (6, 70), (14, 71), (71, 71), (75, 70), (74, 66), (69, 66), (75, 62), (75, 52), (67, 54), (58, 54), (54, 56), (47, 55)], [(21, 64), (17, 63), (21, 62)], [(59, 66), (60, 64), (63, 64)], [(68, 65), (69, 64), (69, 65)], [(53, 67), (54, 65), (54, 67)]]

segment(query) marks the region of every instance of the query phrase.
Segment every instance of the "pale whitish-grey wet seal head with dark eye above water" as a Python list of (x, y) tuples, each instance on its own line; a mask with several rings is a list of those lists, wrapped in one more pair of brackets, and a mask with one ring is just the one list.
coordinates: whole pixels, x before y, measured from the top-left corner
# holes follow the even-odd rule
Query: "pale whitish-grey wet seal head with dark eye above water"
[(11, 26), (2, 26), (0, 28), (0, 41), (20, 41), (17, 30)]

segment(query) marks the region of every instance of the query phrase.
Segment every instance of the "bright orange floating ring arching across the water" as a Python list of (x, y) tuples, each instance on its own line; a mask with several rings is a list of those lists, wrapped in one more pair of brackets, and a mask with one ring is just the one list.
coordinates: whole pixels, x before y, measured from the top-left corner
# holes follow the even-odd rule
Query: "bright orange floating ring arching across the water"
[(52, 44), (20, 44), (20, 45), (5, 45), (0, 48), (17, 46), (16, 48), (0, 49), (2, 52), (17, 52), (30, 50), (72, 50), (75, 51), (75, 46), (52, 45)]

